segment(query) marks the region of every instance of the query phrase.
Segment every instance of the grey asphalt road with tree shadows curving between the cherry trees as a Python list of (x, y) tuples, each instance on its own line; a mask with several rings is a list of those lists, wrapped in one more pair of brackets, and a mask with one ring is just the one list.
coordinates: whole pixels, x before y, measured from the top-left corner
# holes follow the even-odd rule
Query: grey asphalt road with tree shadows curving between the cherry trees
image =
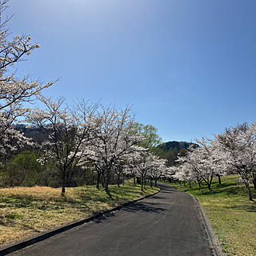
[(9, 255), (212, 255), (193, 198), (161, 185), (150, 198)]

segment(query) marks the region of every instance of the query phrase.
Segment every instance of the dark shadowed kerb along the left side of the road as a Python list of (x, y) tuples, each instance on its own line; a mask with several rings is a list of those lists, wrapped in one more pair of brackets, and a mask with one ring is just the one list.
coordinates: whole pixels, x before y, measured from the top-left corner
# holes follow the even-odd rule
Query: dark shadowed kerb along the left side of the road
[(0, 248), (0, 256), (4, 256), (6, 254), (10, 254), (16, 250), (21, 250), (23, 248), (25, 248), (26, 246), (31, 246), (33, 245), (34, 243), (36, 242), (40, 242), (42, 240), (45, 240), (46, 238), (50, 238), (52, 236), (54, 236), (55, 234), (60, 234), (66, 230), (70, 230), (72, 228), (74, 228), (75, 226), (80, 226), (86, 222), (90, 222), (90, 221), (93, 221), (95, 218), (100, 218), (106, 214), (109, 214), (115, 210), (121, 210), (122, 207), (124, 206), (128, 206), (134, 202), (138, 202), (144, 198), (149, 198), (151, 196), (154, 196), (155, 194), (158, 194), (161, 190), (155, 192), (154, 194), (147, 194), (146, 196), (142, 197), (142, 198), (138, 198), (138, 199), (134, 199), (133, 201), (129, 201), (129, 202), (126, 202), (126, 203), (123, 203), (122, 205), (120, 206), (115, 206), (113, 208), (111, 208), (110, 210), (104, 210), (100, 213), (97, 213), (97, 214), (94, 214), (88, 218), (82, 218), (76, 222), (70, 222), (69, 224), (65, 224), (65, 225), (62, 225), (62, 226), (58, 226), (52, 230), (47, 230), (45, 232), (40, 232), (40, 234), (37, 234), (37, 235), (34, 235), (30, 238), (25, 238), (25, 239), (22, 239), (18, 242), (14, 242), (14, 243), (11, 243), (10, 245), (7, 245), (7, 246), (2, 246), (2, 248)]

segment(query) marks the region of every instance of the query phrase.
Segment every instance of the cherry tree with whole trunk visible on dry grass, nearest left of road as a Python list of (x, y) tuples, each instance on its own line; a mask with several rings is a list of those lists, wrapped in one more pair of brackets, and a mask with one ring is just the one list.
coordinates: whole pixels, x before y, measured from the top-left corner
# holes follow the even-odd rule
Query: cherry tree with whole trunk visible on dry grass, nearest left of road
[(41, 162), (54, 160), (62, 178), (62, 195), (78, 166), (86, 160), (86, 146), (96, 136), (100, 124), (96, 116), (98, 105), (85, 101), (75, 104), (73, 109), (64, 106), (64, 99), (54, 102), (40, 97), (45, 109), (34, 109), (27, 115), (27, 122), (42, 127), (48, 139), (43, 144)]

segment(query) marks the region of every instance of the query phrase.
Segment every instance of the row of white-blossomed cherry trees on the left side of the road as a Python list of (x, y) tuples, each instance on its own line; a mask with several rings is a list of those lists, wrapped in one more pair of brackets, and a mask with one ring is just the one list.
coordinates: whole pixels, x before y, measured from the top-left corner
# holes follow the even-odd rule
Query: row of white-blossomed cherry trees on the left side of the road
[(55, 162), (62, 177), (62, 194), (78, 168), (93, 168), (100, 182), (109, 192), (110, 177), (140, 177), (142, 190), (146, 178), (154, 180), (166, 169), (166, 162), (138, 146), (143, 136), (134, 126), (134, 115), (129, 108), (89, 104), (79, 101), (66, 106), (63, 98), (40, 96), (42, 109), (30, 110), (26, 122), (46, 131), (47, 139), (41, 145), (43, 164)]

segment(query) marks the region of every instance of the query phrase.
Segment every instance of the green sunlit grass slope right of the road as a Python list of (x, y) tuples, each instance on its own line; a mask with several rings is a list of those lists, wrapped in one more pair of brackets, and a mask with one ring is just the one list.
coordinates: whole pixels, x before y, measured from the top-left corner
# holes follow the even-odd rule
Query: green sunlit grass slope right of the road
[[(170, 183), (178, 190), (196, 196), (218, 234), (223, 251), (227, 255), (256, 255), (256, 202), (248, 200), (245, 186), (237, 185), (238, 176), (222, 177), (222, 185), (214, 179), (212, 191), (206, 186), (180, 186)], [(251, 188), (256, 201), (256, 191)]]

